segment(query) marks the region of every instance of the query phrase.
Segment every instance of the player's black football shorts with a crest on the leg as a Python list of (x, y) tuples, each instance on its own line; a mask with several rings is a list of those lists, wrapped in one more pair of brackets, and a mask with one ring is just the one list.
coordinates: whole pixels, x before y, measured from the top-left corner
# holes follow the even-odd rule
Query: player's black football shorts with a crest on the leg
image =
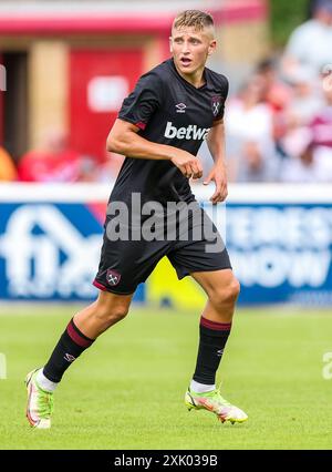
[(197, 230), (196, 226), (195, 233), (195, 225), (189, 223), (189, 230), (185, 236), (177, 235), (170, 240), (111, 240), (106, 232), (110, 223), (107, 216), (101, 261), (93, 285), (101, 290), (118, 295), (133, 294), (164, 256), (168, 257), (178, 279), (197, 271), (231, 269), (219, 232), (203, 209), (201, 213), (210, 224), (209, 232), (205, 232), (204, 227)]

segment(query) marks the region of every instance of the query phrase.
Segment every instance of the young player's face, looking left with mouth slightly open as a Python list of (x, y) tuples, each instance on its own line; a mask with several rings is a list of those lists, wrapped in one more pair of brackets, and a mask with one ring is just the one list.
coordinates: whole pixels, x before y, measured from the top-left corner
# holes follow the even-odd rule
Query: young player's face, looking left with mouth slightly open
[(170, 52), (177, 70), (184, 75), (203, 71), (215, 49), (216, 40), (209, 30), (197, 31), (193, 27), (184, 27), (172, 31)]

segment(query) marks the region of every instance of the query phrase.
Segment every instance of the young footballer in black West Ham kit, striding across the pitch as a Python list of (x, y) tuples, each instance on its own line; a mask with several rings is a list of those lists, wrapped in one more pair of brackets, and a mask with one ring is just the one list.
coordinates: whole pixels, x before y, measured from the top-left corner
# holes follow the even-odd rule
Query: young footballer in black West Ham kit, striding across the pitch
[[(28, 373), (27, 417), (32, 427), (51, 427), (53, 392), (64, 371), (102, 332), (127, 315), (137, 285), (146, 280), (164, 256), (179, 279), (191, 276), (207, 295), (199, 324), (196, 368), (185, 404), (189, 410), (208, 410), (221, 422), (240, 423), (248, 418), (225, 400), (215, 384), (231, 329), (239, 283), (225, 246), (217, 245), (211, 250), (211, 242), (221, 239), (216, 227), (212, 226), (215, 239), (206, 234), (195, 237), (195, 229), (200, 224), (205, 226), (203, 220), (209, 218), (195, 201), (188, 182), (190, 177), (203, 176), (196, 155), (206, 138), (214, 165), (204, 183), (215, 183), (210, 198), (214, 204), (227, 196), (222, 116), (228, 81), (205, 66), (215, 49), (211, 16), (184, 11), (173, 22), (173, 58), (142, 75), (123, 102), (107, 137), (107, 150), (126, 158), (110, 197), (101, 263), (94, 280), (100, 294), (96, 301), (71, 319), (45, 366)], [(148, 215), (141, 214), (137, 204), (159, 205), (165, 208), (167, 219), (174, 217), (169, 211), (172, 202), (183, 207), (190, 205), (185, 237), (178, 230), (183, 223), (178, 214), (172, 228), (175, 237), (156, 240), (144, 237), (139, 229)], [(126, 208), (124, 215), (139, 216), (138, 224), (118, 220), (114, 206)], [(201, 217), (198, 226), (197, 215)], [(129, 233), (129, 237), (112, 237), (116, 226), (113, 223), (118, 222), (123, 235)]]

